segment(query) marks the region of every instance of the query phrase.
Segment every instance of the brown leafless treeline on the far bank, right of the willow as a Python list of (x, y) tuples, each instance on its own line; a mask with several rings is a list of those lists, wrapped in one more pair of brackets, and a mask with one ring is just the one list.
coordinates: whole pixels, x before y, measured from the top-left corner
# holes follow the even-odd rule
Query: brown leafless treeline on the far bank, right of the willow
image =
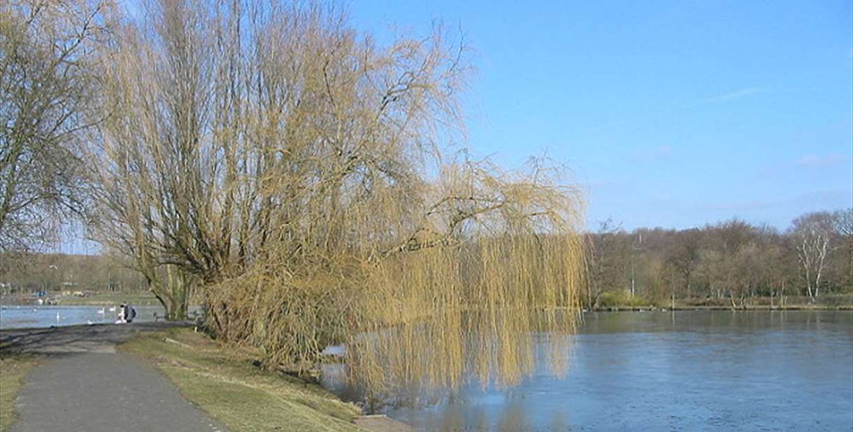
[(739, 219), (704, 228), (639, 228), (600, 222), (589, 233), (586, 307), (853, 292), (853, 210), (808, 213), (780, 231)]

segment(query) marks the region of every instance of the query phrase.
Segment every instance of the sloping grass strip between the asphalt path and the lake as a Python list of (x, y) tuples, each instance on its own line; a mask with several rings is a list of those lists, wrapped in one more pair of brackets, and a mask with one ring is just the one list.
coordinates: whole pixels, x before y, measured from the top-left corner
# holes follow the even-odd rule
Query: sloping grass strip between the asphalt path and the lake
[(251, 352), (226, 350), (188, 329), (139, 335), (119, 349), (153, 360), (185, 398), (235, 432), (363, 430), (352, 423), (357, 406), (316, 384), (264, 372)]

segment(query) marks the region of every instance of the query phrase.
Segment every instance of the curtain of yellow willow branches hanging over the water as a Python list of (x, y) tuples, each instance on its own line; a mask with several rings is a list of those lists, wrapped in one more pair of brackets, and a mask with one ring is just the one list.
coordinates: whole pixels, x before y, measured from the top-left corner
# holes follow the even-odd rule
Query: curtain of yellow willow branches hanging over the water
[[(383, 263), (349, 339), (353, 378), (368, 389), (514, 384), (535, 365), (533, 333), (575, 329), (582, 268), (577, 237), (504, 235)], [(548, 344), (566, 369), (568, 338)]]

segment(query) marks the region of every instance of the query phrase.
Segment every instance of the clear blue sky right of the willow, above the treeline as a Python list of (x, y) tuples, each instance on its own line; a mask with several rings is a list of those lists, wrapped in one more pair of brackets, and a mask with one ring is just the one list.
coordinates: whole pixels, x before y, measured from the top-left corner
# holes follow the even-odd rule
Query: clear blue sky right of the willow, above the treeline
[(352, 0), (380, 40), (461, 26), (478, 72), (467, 147), (547, 153), (589, 227), (786, 228), (853, 201), (853, 9), (814, 2)]

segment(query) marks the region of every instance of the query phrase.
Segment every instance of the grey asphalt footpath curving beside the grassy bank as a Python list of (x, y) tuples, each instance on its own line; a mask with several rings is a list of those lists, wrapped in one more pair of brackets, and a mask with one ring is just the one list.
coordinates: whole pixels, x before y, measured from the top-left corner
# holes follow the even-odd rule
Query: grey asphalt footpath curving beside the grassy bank
[(116, 430), (224, 432), (168, 383), (153, 366), (115, 352), (138, 331), (172, 323), (75, 325), (0, 331), (3, 352), (46, 358), (18, 396), (20, 420), (11, 432)]

